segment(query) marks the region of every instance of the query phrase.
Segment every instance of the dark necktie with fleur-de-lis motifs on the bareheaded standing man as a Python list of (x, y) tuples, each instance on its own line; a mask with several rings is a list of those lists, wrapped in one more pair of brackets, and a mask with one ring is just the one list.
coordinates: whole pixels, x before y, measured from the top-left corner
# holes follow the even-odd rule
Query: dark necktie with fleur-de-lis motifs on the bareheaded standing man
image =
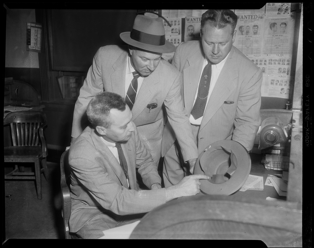
[(203, 116), (207, 102), (210, 78), (212, 76), (212, 65), (210, 62), (204, 67), (201, 80), (198, 86), (196, 101), (191, 111), (191, 115), (197, 120)]

